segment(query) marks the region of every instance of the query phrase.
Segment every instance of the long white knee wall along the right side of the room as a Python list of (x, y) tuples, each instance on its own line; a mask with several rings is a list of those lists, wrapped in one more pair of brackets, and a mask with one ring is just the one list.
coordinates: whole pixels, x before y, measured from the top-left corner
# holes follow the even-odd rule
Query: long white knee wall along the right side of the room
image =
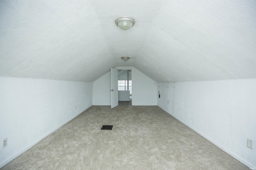
[[(249, 167), (256, 167), (256, 79), (160, 84), (158, 106)], [(167, 99), (174, 99), (173, 104)], [(254, 141), (254, 150), (247, 147)]]

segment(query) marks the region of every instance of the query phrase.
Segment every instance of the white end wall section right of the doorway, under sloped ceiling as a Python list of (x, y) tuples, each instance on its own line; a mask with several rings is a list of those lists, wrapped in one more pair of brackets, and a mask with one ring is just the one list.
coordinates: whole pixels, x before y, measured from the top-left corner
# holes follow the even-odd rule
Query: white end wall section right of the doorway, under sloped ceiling
[(156, 106), (155, 82), (145, 74), (132, 68), (132, 105), (133, 106)]

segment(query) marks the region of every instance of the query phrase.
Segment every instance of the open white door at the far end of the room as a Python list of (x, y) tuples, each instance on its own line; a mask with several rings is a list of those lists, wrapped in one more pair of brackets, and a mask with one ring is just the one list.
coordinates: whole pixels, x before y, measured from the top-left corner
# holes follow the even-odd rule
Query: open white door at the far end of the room
[(118, 69), (111, 68), (111, 108), (118, 106)]

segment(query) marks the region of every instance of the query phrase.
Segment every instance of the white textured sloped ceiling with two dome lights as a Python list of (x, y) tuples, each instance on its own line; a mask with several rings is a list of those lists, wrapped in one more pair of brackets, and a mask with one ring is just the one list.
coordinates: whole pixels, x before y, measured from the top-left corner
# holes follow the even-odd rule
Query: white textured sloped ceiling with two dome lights
[[(120, 16), (135, 25), (119, 29)], [(256, 78), (255, 0), (1, 0), (0, 24), (0, 76), (92, 82), (134, 66), (156, 82)]]

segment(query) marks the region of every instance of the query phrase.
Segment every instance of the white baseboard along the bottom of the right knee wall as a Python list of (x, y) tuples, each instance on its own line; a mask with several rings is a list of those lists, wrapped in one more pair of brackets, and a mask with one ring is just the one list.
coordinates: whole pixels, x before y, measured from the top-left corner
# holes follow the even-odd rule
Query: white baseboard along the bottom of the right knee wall
[(207, 135), (204, 135), (203, 133), (201, 133), (200, 131), (198, 131), (197, 129), (195, 129), (194, 127), (188, 125), (186, 122), (184, 122), (183, 120), (179, 119), (178, 117), (176, 117), (175, 115), (169, 113), (169, 111), (167, 111), (166, 109), (162, 108), (161, 106), (158, 106), (161, 109), (163, 109), (164, 111), (166, 111), (168, 114), (170, 114), (171, 116), (173, 116), (175, 119), (177, 119), (178, 121), (180, 121), (181, 123), (183, 123), (184, 125), (188, 126), (190, 129), (192, 129), (193, 131), (195, 131), (196, 133), (198, 133), (199, 135), (201, 135), (202, 137), (204, 137), (205, 139), (207, 139), (208, 141), (210, 141), (211, 143), (213, 143), (214, 145), (216, 145), (217, 147), (219, 147), (220, 149), (224, 150), (224, 152), (230, 154), (231, 156), (233, 156), (234, 158), (236, 158), (237, 160), (239, 160), (240, 162), (242, 162), (243, 164), (245, 164), (246, 166), (248, 166), (251, 169), (255, 169), (256, 165), (253, 165), (249, 162), (247, 162), (246, 160), (244, 160), (243, 158), (240, 158), (237, 154), (235, 154), (234, 152), (226, 149), (226, 147), (224, 147), (223, 145), (217, 143), (216, 141), (214, 141), (213, 139), (211, 139), (210, 137), (208, 137)]

